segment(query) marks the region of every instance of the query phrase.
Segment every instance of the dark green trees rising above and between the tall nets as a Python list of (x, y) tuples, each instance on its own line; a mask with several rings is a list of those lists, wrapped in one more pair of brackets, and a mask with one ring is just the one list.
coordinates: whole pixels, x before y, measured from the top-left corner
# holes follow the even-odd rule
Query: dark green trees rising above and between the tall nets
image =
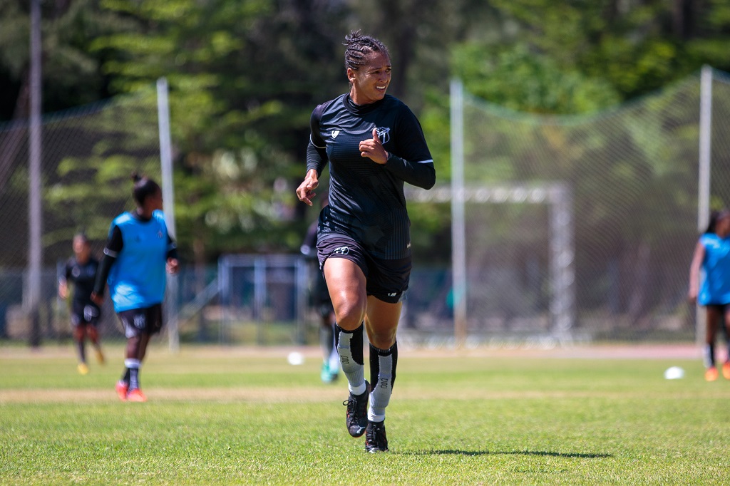
[[(0, 0), (0, 121), (28, 117), (28, 3)], [(178, 239), (199, 263), (299, 247), (310, 113), (347, 89), (350, 30), (390, 48), (390, 92), (419, 115), (442, 183), (453, 77), (493, 104), (572, 115), (703, 64), (730, 71), (723, 0), (44, 0), (42, 19), (44, 112), (168, 80)], [(428, 246), (447, 215), (413, 229)]]

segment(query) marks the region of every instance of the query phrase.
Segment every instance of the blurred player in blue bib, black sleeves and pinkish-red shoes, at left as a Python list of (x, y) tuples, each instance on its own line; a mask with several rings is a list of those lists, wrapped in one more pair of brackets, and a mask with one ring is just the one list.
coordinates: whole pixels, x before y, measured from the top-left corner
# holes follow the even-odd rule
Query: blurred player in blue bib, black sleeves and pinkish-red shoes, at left
[(147, 401), (139, 369), (150, 337), (161, 331), (166, 275), (177, 273), (177, 248), (167, 233), (162, 190), (157, 182), (132, 174), (137, 209), (115, 217), (91, 298), (101, 304), (109, 283), (114, 310), (127, 338), (124, 374), (117, 383), (122, 401)]

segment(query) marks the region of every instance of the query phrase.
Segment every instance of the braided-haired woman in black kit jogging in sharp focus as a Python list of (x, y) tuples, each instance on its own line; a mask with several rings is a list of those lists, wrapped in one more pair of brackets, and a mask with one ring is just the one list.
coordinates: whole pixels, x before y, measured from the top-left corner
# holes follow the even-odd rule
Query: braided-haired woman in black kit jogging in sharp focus
[(366, 451), (385, 452), (385, 408), (398, 363), (396, 329), (411, 270), (403, 186), (429, 189), (436, 172), (418, 119), (385, 94), (391, 82), (388, 48), (360, 31), (348, 35), (345, 46), (350, 91), (312, 112), (307, 174), (296, 195), (312, 206), (320, 174), (329, 167), (329, 205), (320, 212), (317, 253), (350, 392), (345, 424), (351, 436), (365, 434)]

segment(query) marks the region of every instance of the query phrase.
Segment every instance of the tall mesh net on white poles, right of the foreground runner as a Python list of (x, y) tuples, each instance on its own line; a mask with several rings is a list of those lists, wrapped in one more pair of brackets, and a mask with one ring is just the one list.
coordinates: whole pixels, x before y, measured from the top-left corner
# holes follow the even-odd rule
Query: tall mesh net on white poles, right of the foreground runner
[[(730, 204), (730, 84), (712, 83), (712, 202)], [(572, 242), (550, 251), (550, 204), (466, 201), (467, 331), (553, 336), (551, 264), (572, 269), (575, 339), (694, 339), (686, 300), (699, 236), (699, 77), (594, 117), (464, 99), (467, 188), (560, 184)], [(569, 259), (569, 261), (567, 261)]]

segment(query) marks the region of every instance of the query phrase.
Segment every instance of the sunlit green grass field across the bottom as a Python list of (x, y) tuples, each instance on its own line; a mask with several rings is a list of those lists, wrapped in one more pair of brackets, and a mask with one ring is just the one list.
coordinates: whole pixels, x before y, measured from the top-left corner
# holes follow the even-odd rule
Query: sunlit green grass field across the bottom
[(120, 346), (87, 376), (70, 344), (0, 347), (0, 485), (730, 484), (730, 382), (699, 358), (401, 350), (391, 452), (370, 455), (345, 382), (288, 351), (153, 347), (129, 404)]

